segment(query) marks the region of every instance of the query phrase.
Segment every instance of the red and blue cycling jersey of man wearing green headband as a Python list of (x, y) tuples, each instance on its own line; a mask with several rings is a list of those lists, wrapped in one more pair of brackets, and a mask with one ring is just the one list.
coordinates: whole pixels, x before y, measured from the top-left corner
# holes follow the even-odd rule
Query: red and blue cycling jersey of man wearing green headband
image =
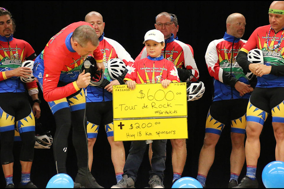
[(277, 66), (283, 67), (284, 65), (283, 33), (283, 29), (275, 33), (270, 25), (258, 27), (251, 34), (248, 42), (241, 48), (241, 51), (245, 53), (249, 53), (249, 51), (254, 48), (261, 49), (264, 64), (272, 66), (270, 74), (257, 77), (256, 87), (284, 87), (284, 76), (277, 72)]

